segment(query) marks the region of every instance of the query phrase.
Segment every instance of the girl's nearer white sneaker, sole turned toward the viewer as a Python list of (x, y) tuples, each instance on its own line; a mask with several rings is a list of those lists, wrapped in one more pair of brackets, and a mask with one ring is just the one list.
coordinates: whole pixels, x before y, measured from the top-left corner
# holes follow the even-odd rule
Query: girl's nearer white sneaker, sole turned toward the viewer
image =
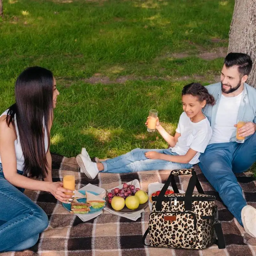
[(93, 180), (99, 173), (97, 164), (93, 163), (90, 158), (87, 159), (82, 154), (79, 154), (76, 156), (76, 161), (77, 161), (77, 164), (80, 166), (80, 172), (84, 172), (84, 174), (89, 179)]

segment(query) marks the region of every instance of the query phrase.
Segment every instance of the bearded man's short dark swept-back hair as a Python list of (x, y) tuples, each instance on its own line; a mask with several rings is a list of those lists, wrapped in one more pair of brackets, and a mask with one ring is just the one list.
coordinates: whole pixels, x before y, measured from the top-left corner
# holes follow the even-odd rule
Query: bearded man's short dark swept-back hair
[(225, 58), (224, 64), (227, 68), (238, 66), (240, 76), (249, 75), (252, 70), (251, 57), (246, 53), (230, 52)]

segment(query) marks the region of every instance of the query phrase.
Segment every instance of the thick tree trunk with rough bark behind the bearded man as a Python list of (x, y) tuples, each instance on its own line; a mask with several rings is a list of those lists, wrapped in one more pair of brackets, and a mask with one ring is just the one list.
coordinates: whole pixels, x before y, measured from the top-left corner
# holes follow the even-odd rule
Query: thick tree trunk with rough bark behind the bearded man
[(236, 0), (228, 52), (243, 52), (251, 56), (252, 71), (246, 83), (256, 87), (256, 0)]

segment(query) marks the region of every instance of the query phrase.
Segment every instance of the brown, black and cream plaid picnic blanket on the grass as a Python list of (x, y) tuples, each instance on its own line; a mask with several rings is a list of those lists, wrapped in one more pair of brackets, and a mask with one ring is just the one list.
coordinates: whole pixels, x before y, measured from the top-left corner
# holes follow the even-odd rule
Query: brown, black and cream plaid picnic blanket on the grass
[[(144, 247), (142, 235), (148, 228), (149, 208), (142, 213), (141, 218), (132, 221), (110, 214), (106, 211), (93, 220), (83, 222), (76, 215), (66, 211), (60, 202), (49, 193), (40, 191), (25, 191), (25, 193), (44, 209), (49, 217), (48, 228), (40, 235), (38, 243), (23, 252), (0, 253), (1, 256), (249, 256), (256, 255), (256, 239), (245, 233), (236, 219), (221, 203), (218, 193), (207, 182), (204, 175), (195, 166), (198, 179), (208, 195), (216, 196), (226, 249), (219, 250), (217, 245), (204, 250), (184, 250)], [(76, 176), (76, 189), (88, 183), (105, 189), (113, 188), (121, 183), (134, 179), (140, 181), (143, 190), (148, 190), (151, 182), (165, 183), (170, 171), (147, 171), (138, 173), (100, 173), (94, 180), (88, 180), (84, 173), (79, 172), (75, 157), (66, 158), (52, 155), (53, 181), (62, 180), (67, 171)], [(186, 190), (190, 176), (175, 177), (178, 188)], [(243, 188), (248, 204), (256, 207), (255, 181), (244, 173), (237, 177)], [(196, 191), (195, 191), (196, 192)]]

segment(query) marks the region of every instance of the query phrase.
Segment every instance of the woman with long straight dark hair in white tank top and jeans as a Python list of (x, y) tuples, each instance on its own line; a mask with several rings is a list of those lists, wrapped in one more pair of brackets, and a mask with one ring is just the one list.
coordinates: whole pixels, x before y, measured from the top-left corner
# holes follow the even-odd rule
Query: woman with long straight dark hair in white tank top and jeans
[(72, 197), (52, 182), (50, 130), (58, 95), (51, 71), (27, 68), (15, 84), (16, 102), (0, 116), (0, 252), (33, 246), (48, 226), (46, 213), (23, 194), (26, 188), (65, 203)]

